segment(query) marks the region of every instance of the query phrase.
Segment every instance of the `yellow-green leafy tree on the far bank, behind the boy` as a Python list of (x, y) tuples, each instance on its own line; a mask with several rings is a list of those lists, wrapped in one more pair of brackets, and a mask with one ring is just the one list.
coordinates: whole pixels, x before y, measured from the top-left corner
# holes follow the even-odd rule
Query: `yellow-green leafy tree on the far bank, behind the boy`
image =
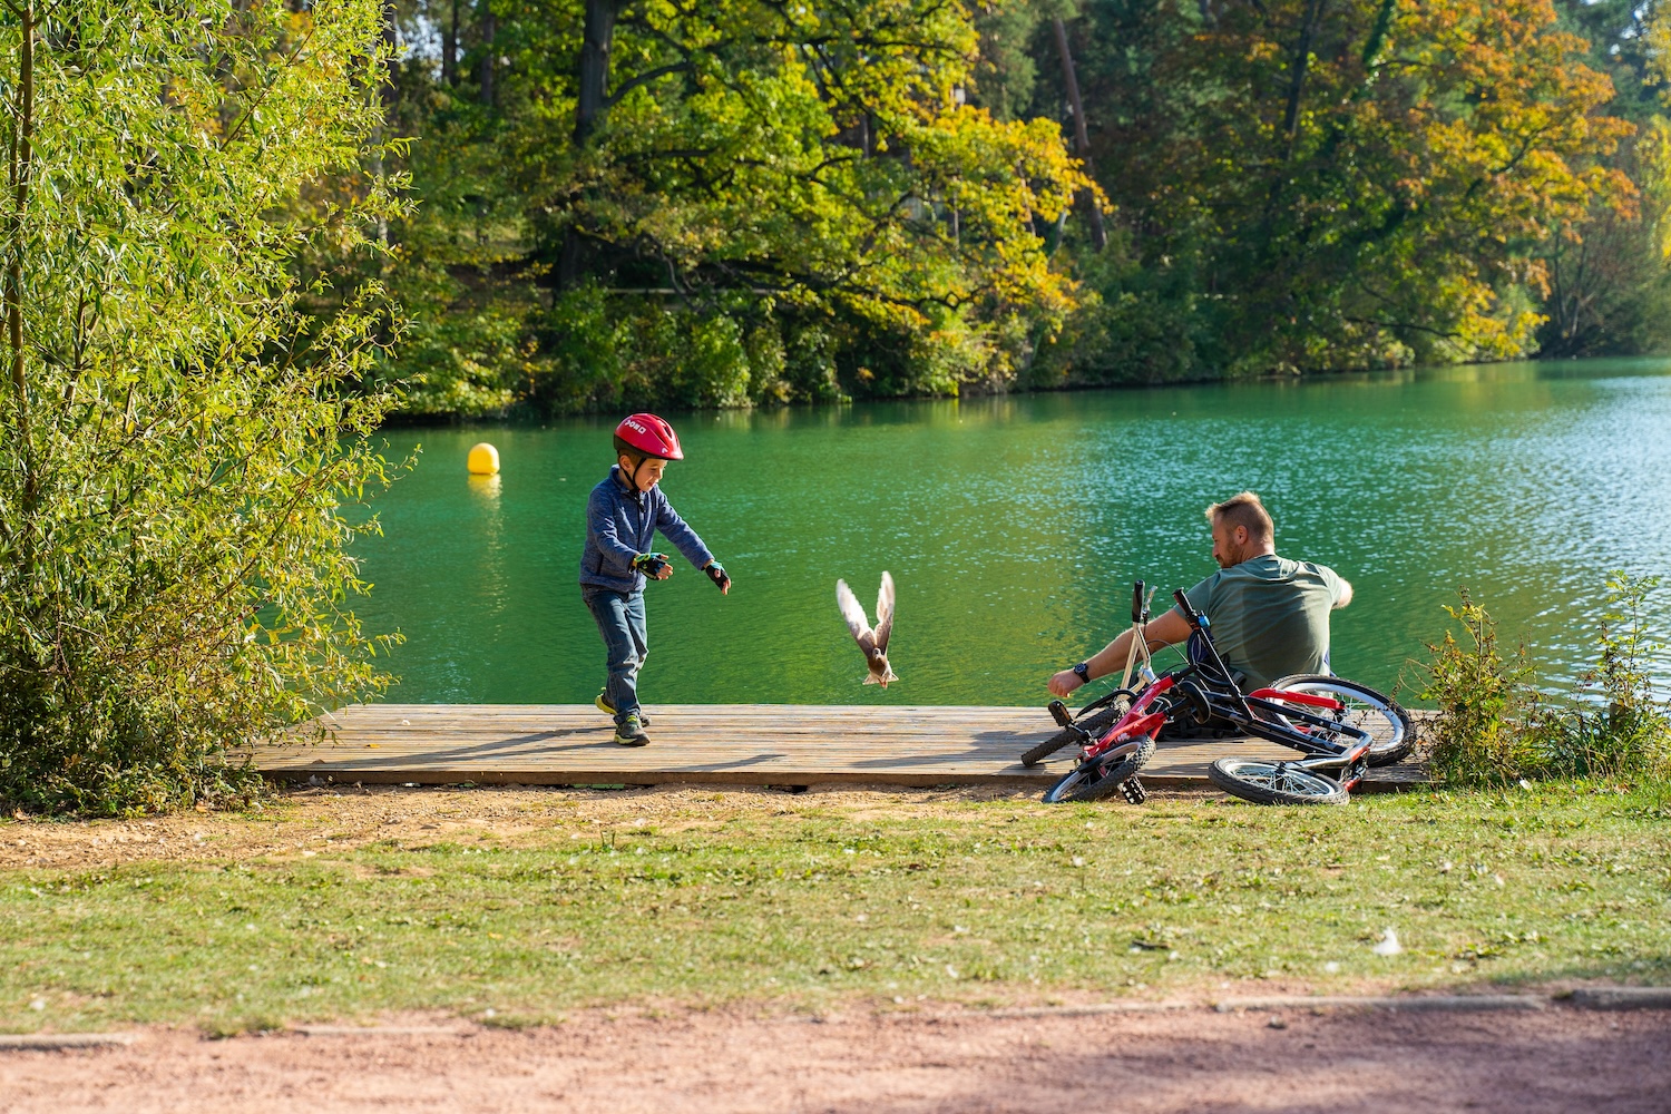
[(416, 413), (988, 389), (1074, 306), (1041, 234), (1084, 179), (1053, 120), (983, 107), (961, 3), (568, 0), (461, 35), (508, 60), (491, 90), (419, 57), (396, 82), (423, 205), (391, 229), (414, 327), (384, 374)]

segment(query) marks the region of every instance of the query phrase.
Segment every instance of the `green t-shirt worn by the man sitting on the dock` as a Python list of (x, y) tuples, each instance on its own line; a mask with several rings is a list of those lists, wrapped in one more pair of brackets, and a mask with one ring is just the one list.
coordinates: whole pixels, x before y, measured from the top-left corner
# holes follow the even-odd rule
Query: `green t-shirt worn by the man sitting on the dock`
[(1218, 656), (1247, 678), (1248, 691), (1290, 673), (1328, 671), (1328, 611), (1340, 591), (1340, 575), (1327, 565), (1267, 553), (1185, 595), (1211, 621)]

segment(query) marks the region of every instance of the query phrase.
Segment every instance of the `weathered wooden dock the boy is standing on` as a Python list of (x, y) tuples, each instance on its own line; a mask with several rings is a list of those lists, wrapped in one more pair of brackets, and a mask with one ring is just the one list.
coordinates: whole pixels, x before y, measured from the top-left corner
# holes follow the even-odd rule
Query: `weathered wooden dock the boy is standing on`
[[(1058, 728), (1043, 708), (652, 705), (648, 747), (617, 747), (592, 705), (354, 705), (334, 740), (274, 743), (256, 765), (281, 780), (416, 785), (999, 785), (1044, 792), (1074, 758), (1064, 747), (1023, 767)], [(1205, 787), (1223, 755), (1293, 757), (1263, 740), (1163, 742), (1150, 787)], [(1387, 792), (1424, 782), (1410, 763), (1370, 772)]]

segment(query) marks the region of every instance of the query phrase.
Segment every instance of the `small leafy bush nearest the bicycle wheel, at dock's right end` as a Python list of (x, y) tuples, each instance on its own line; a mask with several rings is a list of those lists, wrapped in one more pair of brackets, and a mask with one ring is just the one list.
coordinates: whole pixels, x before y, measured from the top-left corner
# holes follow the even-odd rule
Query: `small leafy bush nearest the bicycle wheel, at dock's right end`
[(1504, 656), (1497, 621), (1467, 590), (1462, 606), (1445, 611), (1462, 625), (1464, 641), (1445, 631), (1444, 641), (1427, 646), (1420, 698), (1439, 708), (1427, 728), (1429, 768), (1450, 785), (1517, 782), (1539, 765), (1531, 740), (1537, 691), (1526, 648)]

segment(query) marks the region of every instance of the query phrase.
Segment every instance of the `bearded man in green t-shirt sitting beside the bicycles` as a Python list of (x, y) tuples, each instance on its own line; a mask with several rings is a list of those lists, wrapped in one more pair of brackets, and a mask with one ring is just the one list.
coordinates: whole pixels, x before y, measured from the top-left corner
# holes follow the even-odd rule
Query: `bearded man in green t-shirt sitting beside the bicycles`
[[(1243, 691), (1292, 673), (1328, 673), (1328, 613), (1352, 603), (1352, 585), (1325, 565), (1277, 556), (1270, 514), (1252, 491), (1206, 508), (1218, 571), (1186, 591), (1211, 621), (1213, 646)], [(1168, 608), (1143, 636), (1150, 650), (1190, 638), (1190, 623)], [(1125, 668), (1126, 630), (1095, 656), (1049, 678), (1066, 696), (1089, 680)]]

